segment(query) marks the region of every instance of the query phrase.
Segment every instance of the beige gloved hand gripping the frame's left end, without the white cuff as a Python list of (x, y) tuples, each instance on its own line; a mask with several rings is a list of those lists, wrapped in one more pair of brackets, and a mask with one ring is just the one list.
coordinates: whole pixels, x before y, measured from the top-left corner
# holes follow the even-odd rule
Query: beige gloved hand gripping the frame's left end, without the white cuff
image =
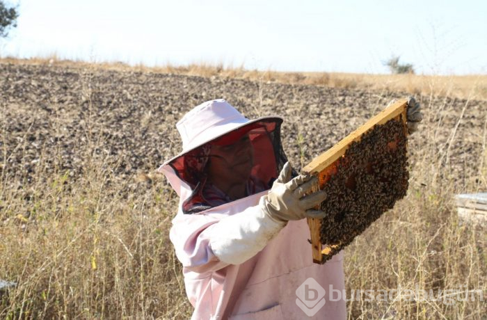
[(264, 195), (262, 211), (275, 221), (323, 218), (324, 211), (313, 209), (326, 200), (325, 191), (311, 193), (312, 187), (317, 184), (317, 177), (298, 175), (292, 178), (292, 168), (287, 162), (269, 194)]

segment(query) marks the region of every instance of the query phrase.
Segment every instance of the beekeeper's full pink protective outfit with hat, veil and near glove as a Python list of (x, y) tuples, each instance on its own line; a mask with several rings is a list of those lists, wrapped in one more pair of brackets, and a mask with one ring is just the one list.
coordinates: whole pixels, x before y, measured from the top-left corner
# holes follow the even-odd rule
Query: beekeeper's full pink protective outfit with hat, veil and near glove
[[(346, 318), (344, 298), (330, 301), (328, 292), (345, 289), (342, 253), (312, 263), (303, 213), (314, 212), (300, 202), (305, 178), (292, 178), (285, 164), (281, 123), (248, 120), (223, 99), (200, 104), (177, 123), (183, 150), (159, 172), (179, 195), (170, 240), (183, 265), (191, 319), (308, 319), (296, 303), (296, 289), (308, 278), (326, 290), (324, 305), (309, 319)], [(205, 175), (208, 145), (244, 134), (253, 148), (246, 196), (225, 199)]]

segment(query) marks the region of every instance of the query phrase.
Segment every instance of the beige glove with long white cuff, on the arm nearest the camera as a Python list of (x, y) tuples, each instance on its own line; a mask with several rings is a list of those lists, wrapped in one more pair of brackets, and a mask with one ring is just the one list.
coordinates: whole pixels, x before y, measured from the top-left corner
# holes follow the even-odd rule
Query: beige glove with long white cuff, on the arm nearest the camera
[(286, 163), (269, 194), (260, 198), (259, 205), (227, 216), (205, 230), (209, 246), (221, 262), (246, 262), (276, 237), (289, 220), (324, 216), (324, 212), (310, 209), (326, 198), (324, 192), (301, 198), (317, 183), (316, 178), (300, 175), (291, 179), (291, 171)]

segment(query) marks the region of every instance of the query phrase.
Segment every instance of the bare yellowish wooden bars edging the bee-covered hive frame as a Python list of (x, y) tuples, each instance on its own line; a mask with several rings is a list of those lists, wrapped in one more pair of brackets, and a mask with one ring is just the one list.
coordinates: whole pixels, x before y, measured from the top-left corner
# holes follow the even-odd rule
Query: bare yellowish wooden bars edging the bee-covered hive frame
[[(349, 145), (353, 141), (360, 141), (362, 134), (365, 134), (369, 129), (372, 129), (375, 125), (383, 125), (385, 122), (391, 119), (402, 119), (404, 122), (404, 134), (407, 134), (406, 127), (406, 109), (408, 102), (406, 99), (399, 99), (399, 101), (394, 102), (391, 106), (375, 115), (373, 118), (365, 122), (351, 134), (346, 136), (336, 145), (333, 145), (328, 151), (314, 158), (307, 166), (301, 170), (301, 173), (305, 175), (315, 175), (320, 178), (320, 184), (326, 183), (323, 181), (323, 175), (325, 173), (333, 174), (334, 168), (337, 166), (337, 160), (344, 156)], [(316, 190), (319, 186), (316, 187)], [(312, 245), (312, 257), (313, 262), (322, 264), (323, 255), (328, 255), (331, 251), (330, 244), (321, 243), (320, 240), (320, 228), (321, 219), (308, 218), (308, 225), (310, 227), (311, 234), (311, 245)], [(333, 246), (333, 245), (331, 245)]]

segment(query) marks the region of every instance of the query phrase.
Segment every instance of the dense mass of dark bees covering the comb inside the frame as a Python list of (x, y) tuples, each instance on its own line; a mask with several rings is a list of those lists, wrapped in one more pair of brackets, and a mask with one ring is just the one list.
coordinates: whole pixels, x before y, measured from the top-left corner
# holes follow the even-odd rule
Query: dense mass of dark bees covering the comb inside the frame
[(333, 173), (320, 173), (320, 189), (328, 195), (321, 203), (321, 210), (328, 213), (321, 220), (320, 239), (328, 248), (321, 263), (392, 209), (406, 195), (408, 178), (407, 139), (401, 119), (375, 125), (349, 145)]

